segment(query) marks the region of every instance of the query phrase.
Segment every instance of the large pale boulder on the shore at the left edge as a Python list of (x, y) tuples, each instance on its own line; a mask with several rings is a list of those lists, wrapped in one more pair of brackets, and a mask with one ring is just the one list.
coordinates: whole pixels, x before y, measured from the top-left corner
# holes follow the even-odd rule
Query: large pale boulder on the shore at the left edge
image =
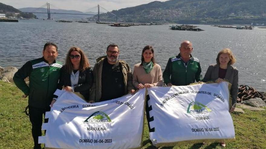
[[(1, 67), (2, 68), (2, 67)], [(0, 80), (4, 82), (13, 82), (13, 76), (18, 71), (16, 67), (5, 67), (3, 71), (0, 68)]]

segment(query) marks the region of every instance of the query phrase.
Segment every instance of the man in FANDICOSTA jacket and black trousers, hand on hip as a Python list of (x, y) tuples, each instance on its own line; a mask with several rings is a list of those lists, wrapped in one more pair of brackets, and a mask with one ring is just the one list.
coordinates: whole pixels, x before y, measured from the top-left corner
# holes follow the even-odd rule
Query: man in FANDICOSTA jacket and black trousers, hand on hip
[[(58, 55), (57, 45), (47, 42), (44, 45), (43, 57), (28, 61), (18, 72), (13, 80), (17, 87), (24, 93), (24, 98), (29, 96), (29, 117), (32, 124), (31, 132), (34, 140), (34, 149), (40, 149), (38, 137), (41, 136), (42, 118), (46, 111), (50, 111), (50, 103), (57, 89), (62, 64), (56, 61)], [(24, 79), (29, 77), (29, 86)], [(48, 119), (45, 119), (46, 123)]]

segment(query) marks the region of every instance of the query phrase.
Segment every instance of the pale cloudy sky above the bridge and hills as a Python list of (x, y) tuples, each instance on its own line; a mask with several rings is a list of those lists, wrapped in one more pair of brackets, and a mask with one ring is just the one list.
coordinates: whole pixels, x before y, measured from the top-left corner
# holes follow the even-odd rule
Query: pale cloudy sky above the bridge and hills
[[(147, 4), (155, 0), (1, 0), (1, 3), (11, 5), (15, 8), (25, 7), (41, 7), (46, 2), (49, 2), (51, 9), (66, 9), (77, 11), (98, 11), (97, 8), (93, 8), (98, 4), (108, 11), (118, 10), (121, 8), (134, 7), (141, 4)], [(164, 2), (165, 0), (157, 0)], [(101, 10), (100, 10), (101, 11)], [(102, 11), (105, 12), (105, 11)]]

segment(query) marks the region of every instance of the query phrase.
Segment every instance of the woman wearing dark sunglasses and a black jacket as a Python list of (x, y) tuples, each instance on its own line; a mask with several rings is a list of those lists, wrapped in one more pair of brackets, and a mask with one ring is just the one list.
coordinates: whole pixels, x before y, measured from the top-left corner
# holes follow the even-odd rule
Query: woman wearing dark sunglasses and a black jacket
[(60, 71), (58, 88), (68, 92), (79, 92), (84, 100), (89, 101), (89, 91), (93, 82), (92, 69), (88, 58), (80, 48), (70, 48), (66, 55), (66, 63)]

